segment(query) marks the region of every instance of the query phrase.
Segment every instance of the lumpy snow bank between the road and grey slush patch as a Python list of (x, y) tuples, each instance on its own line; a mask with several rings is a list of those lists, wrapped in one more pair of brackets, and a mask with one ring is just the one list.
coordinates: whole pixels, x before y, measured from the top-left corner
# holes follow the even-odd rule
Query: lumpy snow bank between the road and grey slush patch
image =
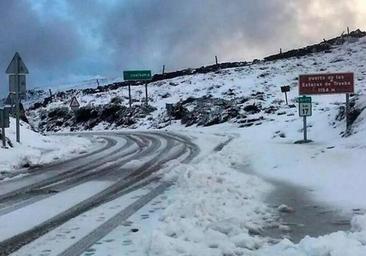
[(240, 155), (228, 152), (178, 165), (165, 176), (177, 181), (149, 255), (245, 255), (265, 243), (258, 234), (273, 213), (261, 201), (271, 186), (231, 168)]

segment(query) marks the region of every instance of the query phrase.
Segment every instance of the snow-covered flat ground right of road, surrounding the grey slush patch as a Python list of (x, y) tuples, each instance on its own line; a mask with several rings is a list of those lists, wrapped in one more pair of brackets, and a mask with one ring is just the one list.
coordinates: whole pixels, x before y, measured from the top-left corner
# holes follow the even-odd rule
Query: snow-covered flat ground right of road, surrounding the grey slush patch
[[(151, 240), (143, 240), (148, 248), (141, 255), (365, 255), (365, 147), (361, 140), (365, 135), (358, 132), (340, 139), (343, 127), (324, 133), (311, 129), (314, 143), (295, 145), (302, 135), (302, 122), (286, 118), (294, 119), (292, 126), (286, 127), (288, 122), (282, 120), (241, 130), (227, 124), (200, 129), (202, 134), (225, 131), (233, 140), (221, 152), (175, 170), (176, 188), (169, 194)], [(325, 120), (324, 115), (314, 116), (312, 123), (325, 128), (327, 122), (321, 124)], [(274, 137), (277, 130), (286, 138)], [(233, 166), (242, 166), (244, 172)], [(249, 235), (251, 229), (280, 225), (274, 218), (278, 213), (263, 203), (273, 186), (251, 172), (309, 188), (315, 201), (334, 208), (360, 209), (352, 219), (352, 229), (305, 237), (298, 244), (283, 239), (273, 245), (271, 240)]]

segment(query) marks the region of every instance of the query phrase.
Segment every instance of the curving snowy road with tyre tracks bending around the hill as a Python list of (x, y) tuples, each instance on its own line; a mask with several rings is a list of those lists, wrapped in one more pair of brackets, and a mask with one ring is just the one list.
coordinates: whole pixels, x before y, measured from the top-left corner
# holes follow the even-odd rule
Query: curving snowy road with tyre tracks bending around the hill
[[(158, 184), (144, 195), (145, 200), (136, 199), (132, 212), (137, 211), (169, 186), (159, 184), (154, 172), (168, 167), (172, 160), (189, 162), (199, 152), (188, 138), (173, 133), (87, 133), (81, 136), (96, 137), (104, 143), (89, 154), (40, 167), (25, 177), (1, 184), (0, 255), (9, 255), (70, 219), (146, 184)], [(122, 217), (125, 216), (124, 209), (120, 210)], [(113, 219), (111, 222), (107, 225), (113, 226)], [(83, 244), (100, 239), (100, 235), (92, 237)], [(78, 244), (79, 254), (83, 248)], [(65, 255), (74, 255), (73, 250), (76, 249), (69, 249)]]

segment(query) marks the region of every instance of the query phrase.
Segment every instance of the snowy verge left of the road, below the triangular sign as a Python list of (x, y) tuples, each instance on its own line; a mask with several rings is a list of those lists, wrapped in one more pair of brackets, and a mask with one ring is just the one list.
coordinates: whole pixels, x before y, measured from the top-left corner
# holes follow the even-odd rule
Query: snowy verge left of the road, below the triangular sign
[(90, 140), (76, 136), (40, 135), (24, 122), (21, 122), (21, 142), (17, 143), (14, 118), (10, 118), (10, 128), (5, 134), (13, 147), (0, 148), (0, 180), (22, 175), (29, 167), (84, 154), (95, 147)]

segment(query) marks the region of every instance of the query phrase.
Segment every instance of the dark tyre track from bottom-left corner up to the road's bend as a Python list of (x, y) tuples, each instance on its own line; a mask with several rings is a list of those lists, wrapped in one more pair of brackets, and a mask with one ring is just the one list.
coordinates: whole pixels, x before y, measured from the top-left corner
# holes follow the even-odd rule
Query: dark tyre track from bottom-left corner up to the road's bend
[[(150, 160), (145, 162), (142, 166), (138, 167), (135, 170), (131, 170), (128, 172), (128, 175), (121, 178), (115, 184), (109, 186), (107, 189), (102, 192), (88, 198), (87, 200), (71, 207), (65, 212), (54, 216), (51, 219), (48, 219), (41, 224), (35, 226), (34, 228), (27, 230), (21, 234), (18, 234), (10, 239), (0, 242), (0, 255), (8, 255), (18, 248), (28, 244), (38, 237), (46, 234), (47, 232), (53, 230), (54, 228), (62, 225), (67, 222), (69, 219), (80, 215), (83, 212), (86, 212), (94, 207), (100, 206), (106, 202), (109, 202), (115, 199), (116, 195), (120, 195), (123, 191), (128, 190), (129, 187), (132, 187), (134, 184), (144, 180), (149, 177), (152, 173), (159, 170), (161, 166), (171, 160), (178, 159), (181, 155), (188, 152), (188, 156), (185, 157), (184, 161), (190, 161), (193, 157), (199, 152), (197, 146), (187, 140), (185, 137), (179, 137), (174, 134), (162, 134), (162, 133), (134, 133), (135, 136), (150, 136), (155, 137), (156, 140), (166, 140), (166, 146), (159, 151), (159, 153), (153, 156)], [(150, 148), (153, 148), (155, 151), (156, 148), (155, 143), (151, 143)], [(176, 145), (183, 145), (173, 152), (172, 149), (175, 148)], [(151, 153), (151, 152), (150, 152)], [(136, 157), (144, 158), (148, 156), (143, 153)], [(117, 171), (117, 170), (116, 170)]]

